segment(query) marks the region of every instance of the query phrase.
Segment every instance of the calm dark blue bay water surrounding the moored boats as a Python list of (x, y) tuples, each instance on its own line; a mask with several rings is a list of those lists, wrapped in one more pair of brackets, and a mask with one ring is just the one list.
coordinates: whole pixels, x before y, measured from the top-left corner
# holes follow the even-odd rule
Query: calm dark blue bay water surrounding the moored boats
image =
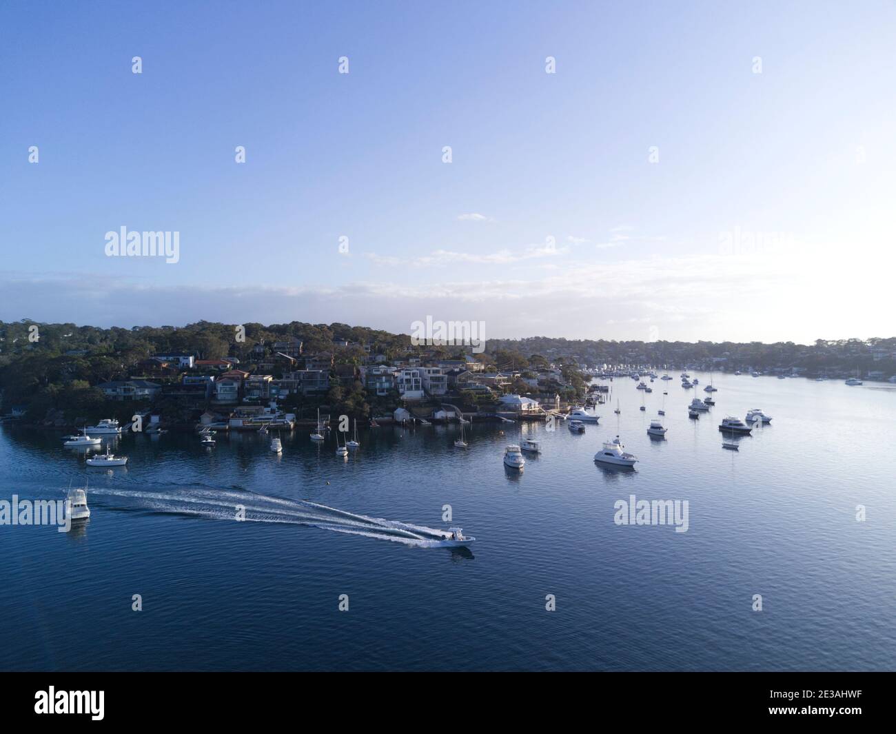
[[(717, 375), (694, 421), (709, 376), (673, 376), (645, 412), (616, 379), (582, 436), (474, 425), (467, 452), (458, 427), (365, 431), (348, 461), (307, 429), (280, 458), (257, 435), (141, 435), (107, 473), (57, 434), (3, 427), (0, 497), (89, 478), (92, 515), (67, 534), (0, 527), (0, 669), (896, 669), (896, 390)], [(668, 436), (651, 441), (664, 389)], [(754, 407), (771, 426), (723, 450), (719, 419)], [(616, 433), (635, 471), (592, 461)], [(514, 475), (502, 454), (521, 434), (543, 453)], [(616, 526), (631, 494), (688, 500), (689, 531)], [(301, 524), (327, 523), (299, 499), (478, 540)], [(237, 504), (253, 522), (230, 519)]]

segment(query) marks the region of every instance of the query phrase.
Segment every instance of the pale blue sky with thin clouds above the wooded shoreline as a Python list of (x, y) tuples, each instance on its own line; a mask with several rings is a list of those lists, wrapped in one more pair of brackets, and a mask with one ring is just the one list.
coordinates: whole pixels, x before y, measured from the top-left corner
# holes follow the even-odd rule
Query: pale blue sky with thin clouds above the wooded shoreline
[[(884, 2), (6, 3), (0, 318), (890, 336), (894, 30)], [(122, 226), (179, 262), (107, 257)]]

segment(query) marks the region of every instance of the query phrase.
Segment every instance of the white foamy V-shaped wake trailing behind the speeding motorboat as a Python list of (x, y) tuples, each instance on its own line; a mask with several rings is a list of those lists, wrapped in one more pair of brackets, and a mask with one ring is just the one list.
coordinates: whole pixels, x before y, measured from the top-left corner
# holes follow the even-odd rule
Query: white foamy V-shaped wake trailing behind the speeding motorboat
[(90, 497), (115, 497), (125, 506), (114, 509), (143, 509), (160, 514), (181, 514), (210, 520), (271, 522), (308, 525), (321, 530), (362, 535), (378, 540), (391, 540), (417, 548), (449, 548), (449, 533), (386, 520), (366, 514), (349, 513), (327, 505), (302, 499), (286, 499), (257, 494), (251, 490), (217, 488), (183, 488), (177, 491), (145, 491), (136, 489), (90, 488)]

